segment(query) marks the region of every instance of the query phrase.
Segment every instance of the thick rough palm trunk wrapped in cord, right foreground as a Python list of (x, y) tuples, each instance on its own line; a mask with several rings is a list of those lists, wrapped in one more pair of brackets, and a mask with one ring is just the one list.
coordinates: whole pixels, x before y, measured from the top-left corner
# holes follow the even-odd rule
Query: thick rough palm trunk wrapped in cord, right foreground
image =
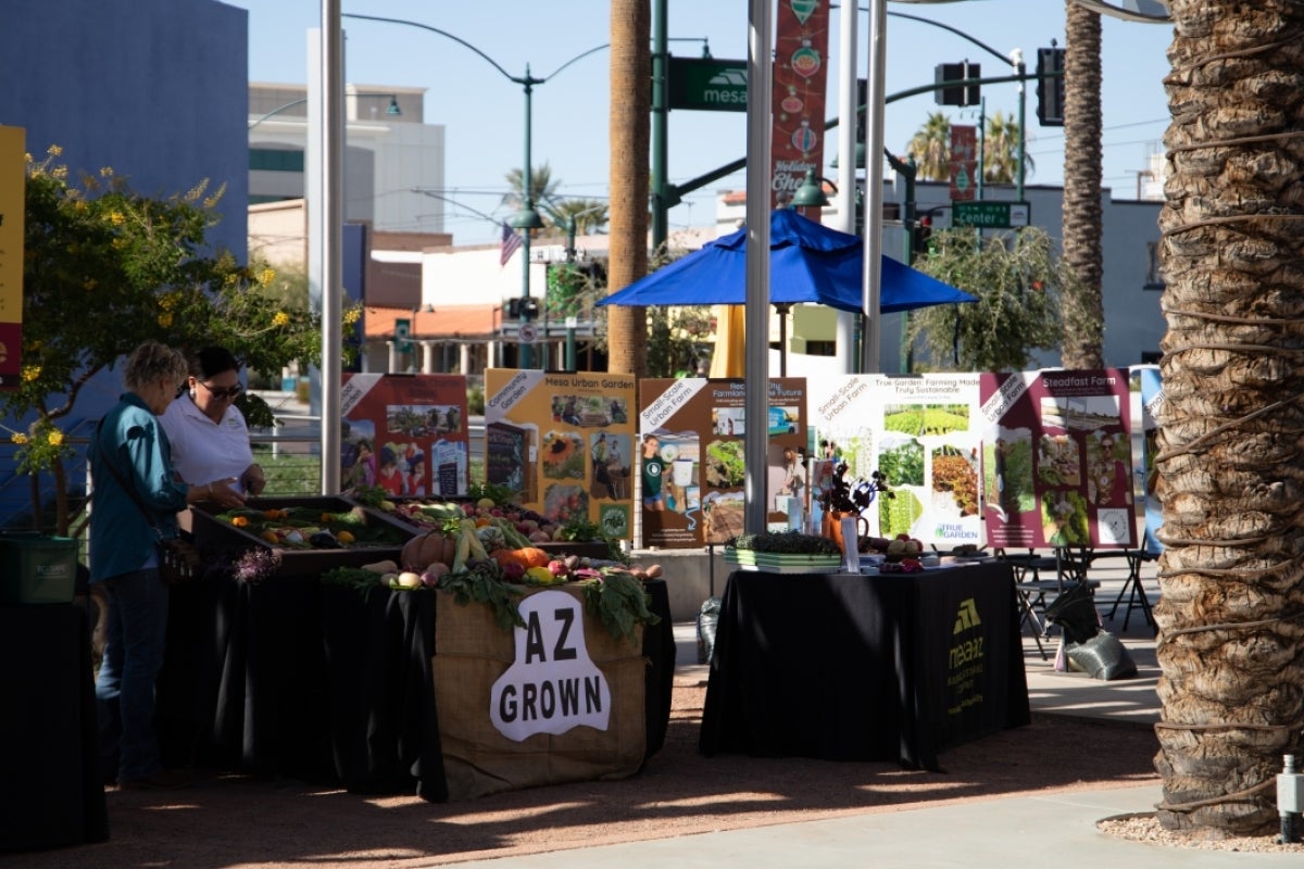
[(1304, 728), (1304, 4), (1168, 8), (1158, 817), (1262, 834)]

